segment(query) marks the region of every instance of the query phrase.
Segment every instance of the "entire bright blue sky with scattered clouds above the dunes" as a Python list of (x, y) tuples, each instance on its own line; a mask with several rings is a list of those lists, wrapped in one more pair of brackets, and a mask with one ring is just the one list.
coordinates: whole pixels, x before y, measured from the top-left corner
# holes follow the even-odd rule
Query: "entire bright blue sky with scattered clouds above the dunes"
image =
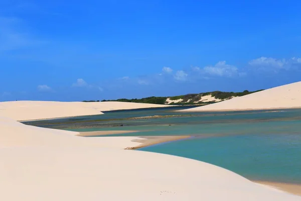
[(300, 81), (300, 7), (0, 0), (0, 101), (139, 98)]

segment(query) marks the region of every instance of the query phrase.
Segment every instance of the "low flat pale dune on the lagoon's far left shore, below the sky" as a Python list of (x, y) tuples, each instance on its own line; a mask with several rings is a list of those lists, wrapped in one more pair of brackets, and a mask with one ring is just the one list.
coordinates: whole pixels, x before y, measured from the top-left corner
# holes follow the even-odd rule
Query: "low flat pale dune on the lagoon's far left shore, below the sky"
[(139, 104), (123, 102), (48, 102), (48, 101), (12, 101), (0, 102), (0, 116), (17, 121), (51, 119), (62, 117), (101, 115), (101, 111), (127, 110), (139, 108), (168, 107), (157, 104)]

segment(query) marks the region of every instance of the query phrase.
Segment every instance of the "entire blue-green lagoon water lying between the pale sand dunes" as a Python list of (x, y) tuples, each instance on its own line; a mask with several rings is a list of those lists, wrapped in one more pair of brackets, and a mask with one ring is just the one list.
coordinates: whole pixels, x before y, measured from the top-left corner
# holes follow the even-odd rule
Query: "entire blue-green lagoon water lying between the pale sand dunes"
[[(128, 119), (155, 115), (166, 118)], [(161, 108), (26, 124), (73, 131), (140, 131), (114, 136), (191, 135), (139, 150), (208, 162), (252, 180), (301, 183), (301, 110), (177, 113), (175, 108)]]

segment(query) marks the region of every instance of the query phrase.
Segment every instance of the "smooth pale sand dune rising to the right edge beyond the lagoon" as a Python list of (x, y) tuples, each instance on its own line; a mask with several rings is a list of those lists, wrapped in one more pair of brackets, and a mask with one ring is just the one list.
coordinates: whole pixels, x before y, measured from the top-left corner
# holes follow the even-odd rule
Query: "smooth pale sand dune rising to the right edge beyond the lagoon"
[(301, 81), (235, 97), (220, 103), (181, 111), (235, 111), (288, 108), (301, 108)]

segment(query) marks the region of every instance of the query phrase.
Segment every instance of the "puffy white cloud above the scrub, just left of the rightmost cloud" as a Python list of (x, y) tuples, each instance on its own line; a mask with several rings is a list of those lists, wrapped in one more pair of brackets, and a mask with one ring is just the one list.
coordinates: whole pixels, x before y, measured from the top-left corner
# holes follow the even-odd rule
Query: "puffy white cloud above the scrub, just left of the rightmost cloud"
[(237, 74), (238, 68), (233, 65), (226, 64), (226, 61), (219, 61), (214, 66), (206, 66), (203, 68), (205, 73), (218, 76), (234, 76)]

